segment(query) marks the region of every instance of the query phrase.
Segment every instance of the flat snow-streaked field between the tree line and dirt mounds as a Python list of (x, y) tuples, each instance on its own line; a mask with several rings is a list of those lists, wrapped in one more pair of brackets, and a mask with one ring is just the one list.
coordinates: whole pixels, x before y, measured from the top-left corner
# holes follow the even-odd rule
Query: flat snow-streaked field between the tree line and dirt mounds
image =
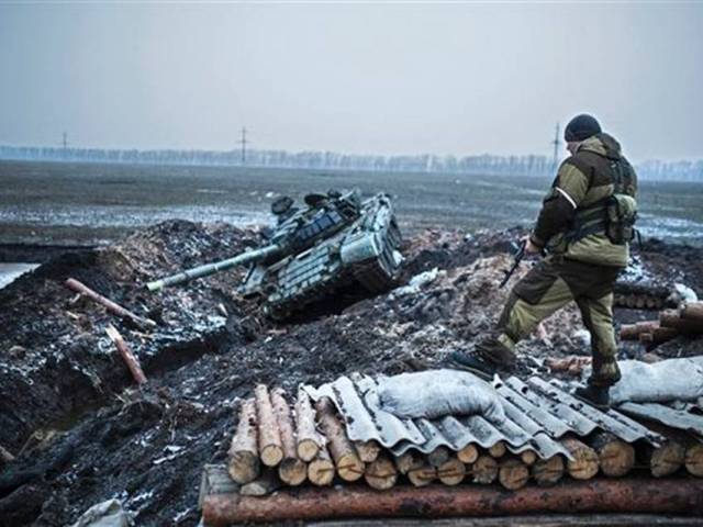
[[(160, 221), (267, 221), (280, 194), (358, 187), (394, 195), (405, 233), (534, 222), (545, 178), (0, 161), (0, 244), (113, 240)], [(646, 236), (703, 245), (703, 183), (641, 183)]]

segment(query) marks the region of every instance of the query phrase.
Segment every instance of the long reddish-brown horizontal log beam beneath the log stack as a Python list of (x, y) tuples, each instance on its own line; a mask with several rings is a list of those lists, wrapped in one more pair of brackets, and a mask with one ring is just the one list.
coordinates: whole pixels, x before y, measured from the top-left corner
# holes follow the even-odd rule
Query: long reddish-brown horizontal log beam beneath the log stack
[(703, 511), (703, 481), (624, 478), (570, 481), (513, 493), (483, 486), (397, 486), (377, 492), (362, 486), (297, 489), (267, 497), (236, 494), (204, 498), (203, 518), (212, 527), (248, 522), (332, 518), (509, 516), (520, 514), (654, 513), (696, 515)]

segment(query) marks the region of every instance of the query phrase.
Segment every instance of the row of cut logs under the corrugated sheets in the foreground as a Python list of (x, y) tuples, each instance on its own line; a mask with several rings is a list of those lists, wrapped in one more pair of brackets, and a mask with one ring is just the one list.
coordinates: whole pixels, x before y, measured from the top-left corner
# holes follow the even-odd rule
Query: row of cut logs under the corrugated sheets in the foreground
[[(394, 456), (376, 441), (353, 441), (344, 418), (326, 397), (314, 404), (299, 390), (294, 403), (280, 390), (260, 384), (254, 397), (238, 408), (227, 471), (242, 492), (263, 494), (266, 489), (333, 482), (365, 482), (387, 491), (400, 483), (422, 487), (431, 483), (500, 484), (517, 491), (528, 483), (553, 486), (565, 478), (591, 480), (598, 474), (622, 478), (633, 470), (649, 469), (655, 478), (685, 468), (703, 476), (703, 446), (671, 439), (659, 448), (637, 452), (617, 437), (596, 431), (588, 437), (560, 439), (570, 452), (543, 459), (531, 448), (513, 451), (503, 441), (488, 447), (469, 444), (459, 450), (438, 447), (423, 453), (416, 449)], [(644, 463), (644, 464), (643, 464)]]

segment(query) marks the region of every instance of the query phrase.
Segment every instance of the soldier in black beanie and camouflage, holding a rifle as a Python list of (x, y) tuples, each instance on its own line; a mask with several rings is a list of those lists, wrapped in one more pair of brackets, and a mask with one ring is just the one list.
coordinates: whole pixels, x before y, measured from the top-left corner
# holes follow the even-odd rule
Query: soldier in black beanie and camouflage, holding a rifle
[(449, 363), (482, 375), (510, 371), (515, 345), (540, 321), (576, 301), (591, 334), (593, 372), (577, 395), (606, 407), (620, 380), (613, 329), (613, 284), (627, 266), (637, 215), (637, 177), (621, 146), (591, 115), (565, 130), (566, 159), (544, 199), (525, 253), (547, 251), (515, 284), (495, 332), (472, 352), (455, 351)]

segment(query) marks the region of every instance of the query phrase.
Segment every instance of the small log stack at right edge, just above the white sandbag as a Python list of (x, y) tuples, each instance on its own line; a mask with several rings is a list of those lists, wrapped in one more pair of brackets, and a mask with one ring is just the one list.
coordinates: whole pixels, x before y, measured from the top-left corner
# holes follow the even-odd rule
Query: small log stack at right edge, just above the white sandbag
[(658, 321), (624, 325), (623, 340), (639, 340), (647, 346), (666, 343), (680, 335), (703, 335), (703, 302), (685, 302), (677, 310), (665, 310)]

